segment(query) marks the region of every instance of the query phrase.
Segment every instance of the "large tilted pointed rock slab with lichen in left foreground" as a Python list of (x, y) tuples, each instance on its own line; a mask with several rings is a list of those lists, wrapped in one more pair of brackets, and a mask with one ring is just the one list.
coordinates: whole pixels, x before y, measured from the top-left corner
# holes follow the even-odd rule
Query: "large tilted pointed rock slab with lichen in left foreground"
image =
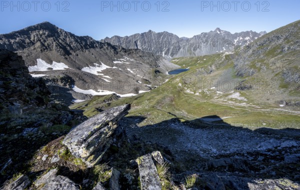
[(86, 120), (75, 127), (63, 140), (72, 155), (88, 166), (97, 164), (113, 143), (116, 122), (125, 116), (130, 105), (114, 107)]

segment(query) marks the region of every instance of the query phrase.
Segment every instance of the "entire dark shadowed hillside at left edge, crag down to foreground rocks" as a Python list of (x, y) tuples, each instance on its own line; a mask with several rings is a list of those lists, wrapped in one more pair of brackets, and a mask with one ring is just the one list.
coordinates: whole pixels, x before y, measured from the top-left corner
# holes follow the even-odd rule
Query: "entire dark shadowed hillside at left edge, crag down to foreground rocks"
[(44, 143), (83, 120), (82, 113), (51, 99), (43, 79), (29, 75), (21, 56), (0, 50), (0, 184), (22, 171)]

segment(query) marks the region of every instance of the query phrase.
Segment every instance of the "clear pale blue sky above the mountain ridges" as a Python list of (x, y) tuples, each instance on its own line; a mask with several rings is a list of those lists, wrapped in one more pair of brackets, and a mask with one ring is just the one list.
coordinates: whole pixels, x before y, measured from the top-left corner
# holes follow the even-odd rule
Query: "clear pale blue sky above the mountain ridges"
[(1, 0), (0, 33), (42, 21), (96, 40), (149, 29), (192, 37), (219, 27), (267, 32), (300, 19), (300, 0)]

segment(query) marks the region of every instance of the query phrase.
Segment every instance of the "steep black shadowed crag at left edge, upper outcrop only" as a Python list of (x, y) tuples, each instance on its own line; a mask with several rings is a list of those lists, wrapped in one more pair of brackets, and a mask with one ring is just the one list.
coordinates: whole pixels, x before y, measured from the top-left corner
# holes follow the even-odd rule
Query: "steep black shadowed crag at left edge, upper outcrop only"
[(0, 92), (2, 116), (21, 115), (27, 106), (46, 106), (50, 94), (42, 80), (29, 75), (22, 57), (7, 50), (0, 50)]

